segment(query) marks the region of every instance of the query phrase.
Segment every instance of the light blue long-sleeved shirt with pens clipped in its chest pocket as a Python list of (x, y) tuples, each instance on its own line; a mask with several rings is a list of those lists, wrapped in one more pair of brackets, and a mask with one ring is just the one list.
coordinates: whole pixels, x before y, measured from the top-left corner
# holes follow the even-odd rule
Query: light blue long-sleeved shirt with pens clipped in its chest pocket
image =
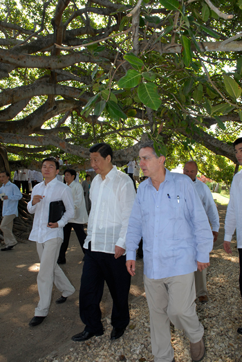
[(144, 273), (161, 279), (192, 273), (209, 262), (212, 230), (191, 179), (166, 169), (159, 190), (140, 183), (126, 235), (127, 260), (136, 260), (143, 237)]

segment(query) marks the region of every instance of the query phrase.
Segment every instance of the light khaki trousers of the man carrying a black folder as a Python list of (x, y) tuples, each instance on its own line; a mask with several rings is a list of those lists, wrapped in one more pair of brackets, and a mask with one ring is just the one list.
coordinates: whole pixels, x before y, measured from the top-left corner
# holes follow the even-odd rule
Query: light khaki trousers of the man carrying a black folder
[(37, 276), (37, 285), (39, 291), (39, 303), (35, 308), (35, 316), (45, 317), (50, 307), (53, 282), (55, 287), (62, 292), (62, 296), (68, 297), (75, 292), (64, 272), (57, 264), (59, 249), (62, 245), (62, 238), (55, 237), (44, 243), (36, 243), (37, 253), (39, 254), (40, 266)]

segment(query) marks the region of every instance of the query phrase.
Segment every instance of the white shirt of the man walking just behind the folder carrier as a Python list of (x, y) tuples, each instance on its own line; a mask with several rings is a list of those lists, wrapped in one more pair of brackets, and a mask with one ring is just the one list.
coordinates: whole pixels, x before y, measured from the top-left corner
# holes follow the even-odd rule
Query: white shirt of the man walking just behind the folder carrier
[(73, 195), (75, 217), (70, 219), (68, 222), (73, 222), (75, 224), (86, 224), (89, 220), (89, 217), (86, 212), (86, 203), (82, 185), (73, 181), (70, 183), (69, 187), (71, 188), (71, 193)]

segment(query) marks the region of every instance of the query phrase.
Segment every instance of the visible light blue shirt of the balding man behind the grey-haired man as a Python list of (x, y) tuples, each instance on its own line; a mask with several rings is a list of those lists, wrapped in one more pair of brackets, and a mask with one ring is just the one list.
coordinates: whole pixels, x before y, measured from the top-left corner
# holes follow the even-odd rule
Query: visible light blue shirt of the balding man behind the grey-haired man
[(195, 178), (194, 186), (196, 188), (196, 192), (198, 192), (198, 196), (200, 197), (203, 207), (205, 208), (205, 212), (207, 214), (208, 219), (210, 220), (210, 224), (212, 225), (213, 231), (219, 230), (219, 216), (218, 210), (216, 207), (216, 203), (212, 197), (212, 193), (210, 188), (203, 183), (202, 181)]

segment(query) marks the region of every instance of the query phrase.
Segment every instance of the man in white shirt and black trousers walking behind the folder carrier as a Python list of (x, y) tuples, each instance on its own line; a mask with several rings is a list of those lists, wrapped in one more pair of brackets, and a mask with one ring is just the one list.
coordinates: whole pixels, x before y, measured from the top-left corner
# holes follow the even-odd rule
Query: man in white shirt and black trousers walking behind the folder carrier
[(64, 240), (59, 251), (59, 257), (57, 260), (58, 264), (66, 264), (66, 250), (68, 248), (72, 228), (75, 230), (77, 239), (80, 242), (83, 253), (85, 253), (83, 245), (86, 239), (86, 233), (84, 232), (83, 224), (87, 223), (89, 217), (86, 212), (86, 203), (84, 199), (82, 185), (75, 182), (76, 174), (77, 173), (73, 169), (68, 168), (64, 171), (64, 179), (66, 181), (66, 184), (71, 188), (71, 193), (73, 195), (75, 217), (70, 219), (68, 223), (64, 226)]

